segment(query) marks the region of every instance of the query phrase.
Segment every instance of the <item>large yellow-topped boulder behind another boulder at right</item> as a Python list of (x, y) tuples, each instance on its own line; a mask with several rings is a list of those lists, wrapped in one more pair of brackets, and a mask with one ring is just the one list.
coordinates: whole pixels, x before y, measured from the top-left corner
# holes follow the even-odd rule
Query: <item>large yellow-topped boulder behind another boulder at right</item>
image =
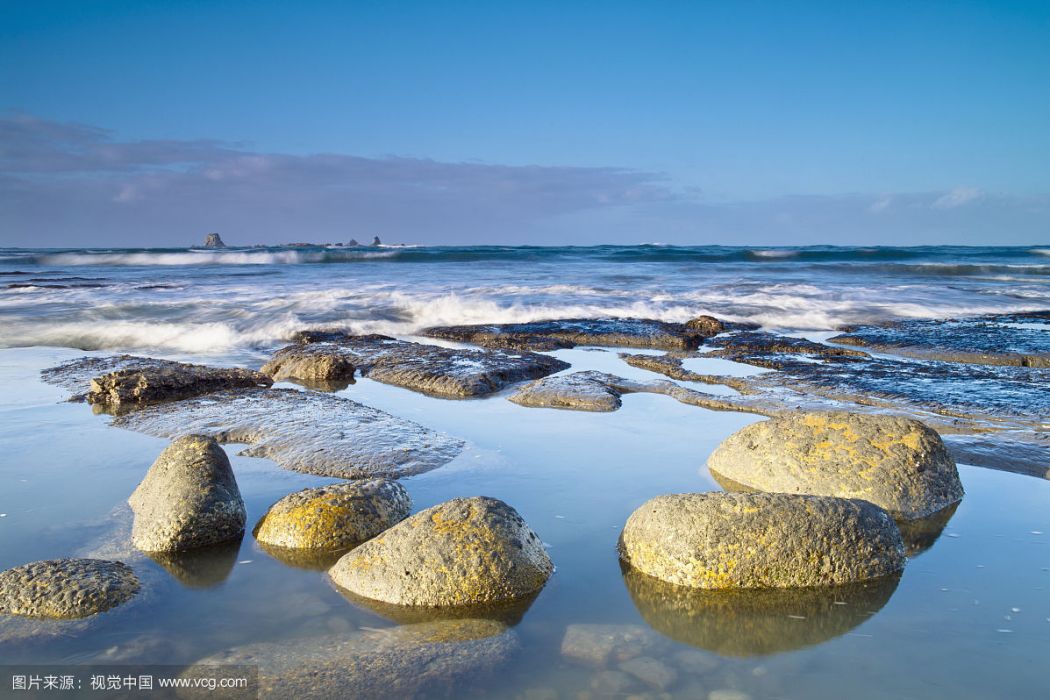
[(925, 517), (963, 497), (940, 436), (894, 416), (785, 413), (730, 436), (708, 467), (761, 491), (863, 499), (903, 518)]

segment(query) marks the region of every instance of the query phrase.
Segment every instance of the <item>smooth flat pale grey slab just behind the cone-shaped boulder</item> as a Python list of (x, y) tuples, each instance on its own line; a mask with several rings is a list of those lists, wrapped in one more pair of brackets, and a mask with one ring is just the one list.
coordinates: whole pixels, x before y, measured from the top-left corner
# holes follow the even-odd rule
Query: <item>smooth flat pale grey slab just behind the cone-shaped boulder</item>
[(463, 442), (356, 401), (295, 389), (220, 391), (113, 420), (159, 438), (197, 432), (251, 445), (240, 452), (339, 479), (399, 478), (452, 461)]

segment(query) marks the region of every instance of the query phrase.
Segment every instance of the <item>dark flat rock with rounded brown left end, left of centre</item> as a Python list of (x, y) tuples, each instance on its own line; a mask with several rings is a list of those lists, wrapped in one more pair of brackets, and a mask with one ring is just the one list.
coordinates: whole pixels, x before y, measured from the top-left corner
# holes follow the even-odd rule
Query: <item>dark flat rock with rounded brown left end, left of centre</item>
[(327, 367), (353, 365), (377, 382), (462, 399), (491, 394), (507, 384), (544, 377), (569, 366), (567, 362), (536, 353), (459, 349), (386, 336), (314, 332), (298, 334), (296, 339), (298, 344), (277, 351), (262, 370), (274, 379), (294, 379), (323, 375)]

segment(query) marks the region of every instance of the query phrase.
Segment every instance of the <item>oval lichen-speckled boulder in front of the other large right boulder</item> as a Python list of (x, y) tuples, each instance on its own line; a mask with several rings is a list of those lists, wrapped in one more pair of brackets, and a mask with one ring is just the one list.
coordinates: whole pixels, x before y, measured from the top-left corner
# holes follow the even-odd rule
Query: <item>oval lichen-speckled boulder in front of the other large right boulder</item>
[(889, 514), (865, 501), (790, 493), (678, 493), (627, 519), (620, 556), (676, 586), (765, 589), (834, 586), (904, 567)]

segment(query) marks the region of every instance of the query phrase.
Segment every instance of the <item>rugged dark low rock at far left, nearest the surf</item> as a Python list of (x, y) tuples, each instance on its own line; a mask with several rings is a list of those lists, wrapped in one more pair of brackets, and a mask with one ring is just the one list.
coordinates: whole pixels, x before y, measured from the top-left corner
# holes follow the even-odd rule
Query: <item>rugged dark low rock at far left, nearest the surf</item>
[(76, 399), (113, 412), (272, 383), (266, 375), (243, 367), (209, 367), (133, 355), (74, 360), (45, 369), (42, 378), (69, 389)]

